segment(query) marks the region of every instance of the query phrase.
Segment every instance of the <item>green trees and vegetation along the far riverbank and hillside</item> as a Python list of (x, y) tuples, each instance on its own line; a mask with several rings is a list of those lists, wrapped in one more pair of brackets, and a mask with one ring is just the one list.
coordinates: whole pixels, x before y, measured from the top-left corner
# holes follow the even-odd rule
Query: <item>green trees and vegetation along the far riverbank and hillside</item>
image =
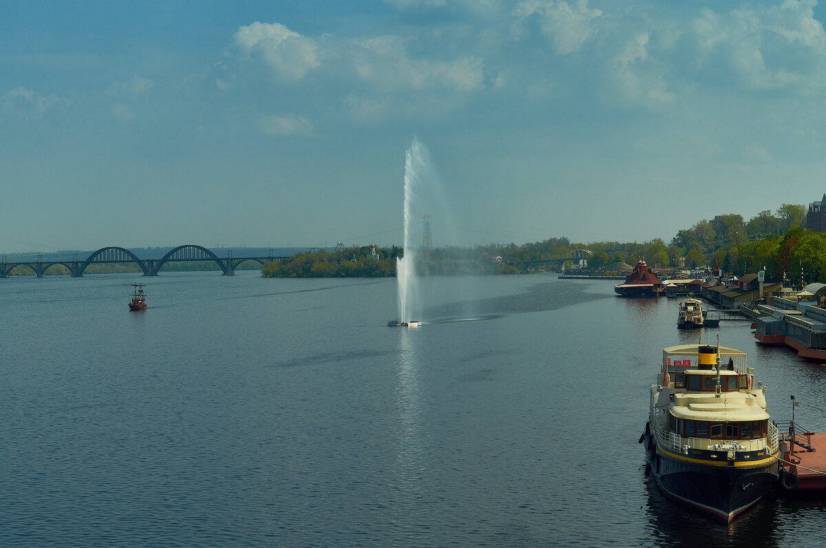
[[(496, 244), (417, 250), (417, 274), (515, 274), (533, 270), (586, 269), (601, 271), (612, 264), (636, 264), (642, 257), (654, 269), (723, 269), (743, 275), (765, 269), (770, 279), (792, 283), (826, 283), (826, 233), (804, 229), (805, 206), (783, 203), (776, 212), (759, 212), (748, 221), (737, 213), (700, 220), (677, 231), (669, 242), (598, 241), (577, 243), (553, 237), (522, 245)], [(374, 245), (336, 250), (311, 250), (263, 265), (265, 277), (382, 277), (396, 275), (396, 258), (404, 250)], [(259, 269), (246, 261), (236, 269)], [(164, 264), (162, 271), (218, 270), (213, 262)], [(140, 273), (135, 264), (90, 264), (84, 274)], [(12, 275), (33, 275), (19, 266)], [(69, 275), (55, 265), (46, 274)]]

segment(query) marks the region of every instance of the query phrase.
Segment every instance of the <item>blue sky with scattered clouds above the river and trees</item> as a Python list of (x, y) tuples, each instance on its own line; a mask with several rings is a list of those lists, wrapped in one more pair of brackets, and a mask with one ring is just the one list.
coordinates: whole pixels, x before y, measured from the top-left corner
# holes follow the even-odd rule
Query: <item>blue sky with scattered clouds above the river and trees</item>
[[(671, 241), (826, 193), (814, 0), (0, 0), (0, 253)], [(432, 194), (432, 195), (431, 195)]]

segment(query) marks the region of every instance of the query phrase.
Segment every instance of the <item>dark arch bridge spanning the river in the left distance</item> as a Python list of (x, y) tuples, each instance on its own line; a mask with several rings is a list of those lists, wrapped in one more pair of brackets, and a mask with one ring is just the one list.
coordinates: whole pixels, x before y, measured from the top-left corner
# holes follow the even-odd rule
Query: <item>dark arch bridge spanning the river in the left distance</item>
[(206, 247), (201, 245), (178, 245), (178, 247), (169, 250), (161, 259), (140, 259), (137, 255), (127, 250), (124, 247), (102, 247), (93, 252), (85, 260), (34, 260), (34, 261), (12, 261), (7, 262), (2, 260), (0, 262), (0, 278), (8, 278), (8, 275), (13, 269), (18, 266), (26, 266), (31, 269), (38, 278), (42, 278), (45, 272), (60, 264), (66, 269), (73, 278), (83, 276), (83, 272), (90, 264), (135, 264), (145, 276), (157, 276), (160, 269), (166, 263), (182, 263), (182, 262), (215, 262), (225, 275), (231, 276), (235, 274), (235, 268), (247, 260), (254, 260), (262, 266), (264, 263), (273, 260), (283, 260), (287, 257), (275, 256), (272, 250), (269, 254), (263, 257), (233, 257), (230, 251), (226, 257), (221, 258)]

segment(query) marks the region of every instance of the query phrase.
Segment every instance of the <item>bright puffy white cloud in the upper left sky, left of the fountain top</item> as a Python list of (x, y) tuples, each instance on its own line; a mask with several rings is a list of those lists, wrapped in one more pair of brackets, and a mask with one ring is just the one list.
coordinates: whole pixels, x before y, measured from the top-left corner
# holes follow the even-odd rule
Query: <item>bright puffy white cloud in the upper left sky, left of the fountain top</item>
[(317, 41), (280, 23), (256, 21), (241, 26), (233, 38), (245, 55), (260, 56), (282, 79), (301, 80), (319, 66)]

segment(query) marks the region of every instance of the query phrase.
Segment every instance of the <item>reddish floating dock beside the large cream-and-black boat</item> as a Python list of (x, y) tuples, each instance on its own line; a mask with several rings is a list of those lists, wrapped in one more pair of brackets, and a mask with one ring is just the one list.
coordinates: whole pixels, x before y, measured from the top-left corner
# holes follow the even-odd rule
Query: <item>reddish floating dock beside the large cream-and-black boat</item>
[(826, 433), (800, 431), (793, 422), (781, 432), (781, 488), (786, 492), (826, 491)]

